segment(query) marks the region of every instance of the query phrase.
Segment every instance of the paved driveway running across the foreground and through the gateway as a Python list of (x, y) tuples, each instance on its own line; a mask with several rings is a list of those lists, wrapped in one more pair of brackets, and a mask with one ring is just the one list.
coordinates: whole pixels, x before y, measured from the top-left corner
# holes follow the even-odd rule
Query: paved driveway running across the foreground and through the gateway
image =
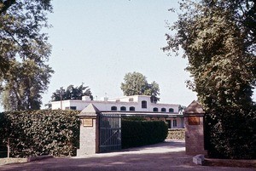
[(131, 148), (126, 151), (88, 155), (84, 157), (49, 158), (42, 161), (9, 164), (0, 170), (193, 170), (193, 171), (255, 171), (254, 168), (198, 166), (185, 155), (184, 141)]

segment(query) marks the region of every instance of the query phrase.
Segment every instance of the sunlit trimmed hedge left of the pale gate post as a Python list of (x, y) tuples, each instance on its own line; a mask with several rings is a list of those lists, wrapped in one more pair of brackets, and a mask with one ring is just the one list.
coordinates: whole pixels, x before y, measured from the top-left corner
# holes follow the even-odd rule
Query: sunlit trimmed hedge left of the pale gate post
[(0, 146), (9, 138), (11, 157), (75, 156), (79, 111), (40, 110), (0, 113)]

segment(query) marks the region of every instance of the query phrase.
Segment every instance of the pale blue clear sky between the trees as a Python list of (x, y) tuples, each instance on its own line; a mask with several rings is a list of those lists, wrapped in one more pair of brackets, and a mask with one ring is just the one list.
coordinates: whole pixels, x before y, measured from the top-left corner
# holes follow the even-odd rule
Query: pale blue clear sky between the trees
[[(186, 88), (191, 79), (184, 71), (188, 60), (167, 56), (166, 22), (173, 23), (176, 0), (76, 0), (52, 1), (48, 14), (55, 74), (43, 95), (48, 103), (58, 88), (89, 86), (95, 100), (123, 96), (125, 74), (137, 71), (160, 85), (160, 103), (189, 105), (196, 94)], [(43, 106), (44, 108), (44, 106)]]

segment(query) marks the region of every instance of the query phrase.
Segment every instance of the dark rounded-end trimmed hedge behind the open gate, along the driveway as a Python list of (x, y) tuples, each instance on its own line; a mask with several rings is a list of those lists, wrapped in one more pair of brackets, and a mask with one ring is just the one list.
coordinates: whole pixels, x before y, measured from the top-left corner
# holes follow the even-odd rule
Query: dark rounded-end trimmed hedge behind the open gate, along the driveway
[(166, 140), (167, 133), (163, 121), (122, 120), (122, 148), (159, 143)]

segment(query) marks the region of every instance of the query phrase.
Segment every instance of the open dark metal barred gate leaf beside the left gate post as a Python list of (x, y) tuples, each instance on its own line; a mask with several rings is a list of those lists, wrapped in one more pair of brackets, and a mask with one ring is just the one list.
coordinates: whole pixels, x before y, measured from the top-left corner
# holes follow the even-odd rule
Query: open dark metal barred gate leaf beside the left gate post
[(100, 152), (118, 151), (121, 145), (121, 115), (100, 114)]

